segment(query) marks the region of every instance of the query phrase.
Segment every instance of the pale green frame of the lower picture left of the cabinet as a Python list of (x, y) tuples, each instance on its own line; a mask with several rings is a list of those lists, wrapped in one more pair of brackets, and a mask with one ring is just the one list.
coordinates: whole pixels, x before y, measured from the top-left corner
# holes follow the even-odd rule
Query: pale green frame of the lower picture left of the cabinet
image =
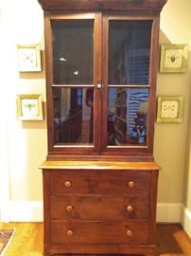
[[(38, 115), (25, 115), (22, 100), (37, 100)], [(17, 119), (19, 120), (43, 120), (43, 101), (40, 94), (22, 94), (17, 95)], [(31, 105), (30, 105), (31, 106)], [(29, 107), (29, 106), (28, 106)], [(26, 106), (27, 108), (27, 106)]]

